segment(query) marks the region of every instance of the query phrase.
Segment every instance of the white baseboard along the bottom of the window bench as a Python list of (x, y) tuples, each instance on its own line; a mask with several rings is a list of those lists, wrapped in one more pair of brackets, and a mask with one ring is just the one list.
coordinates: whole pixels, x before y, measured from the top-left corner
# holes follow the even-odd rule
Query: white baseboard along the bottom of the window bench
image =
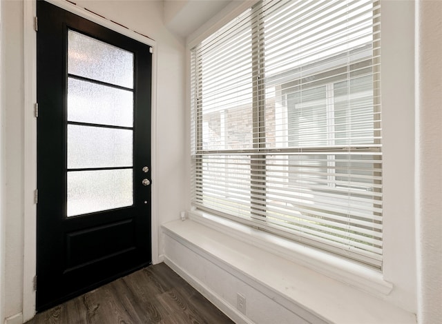
[(164, 256), (164, 263), (169, 265), (173, 271), (179, 274), (185, 281), (187, 281), (192, 287), (194, 287), (198, 292), (200, 292), (204, 297), (209, 299), (213, 305), (215, 305), (221, 312), (229, 316), (233, 322), (236, 324), (253, 324), (252, 321), (249, 320), (246, 316), (241, 314), (238, 310), (231, 307), (229, 303), (224, 301), (224, 299), (213, 292), (209, 287), (207, 287), (204, 283), (196, 279), (194, 276), (186, 272), (186, 270), (182, 269), (182, 267), (176, 265), (173, 261), (171, 261), (167, 256)]

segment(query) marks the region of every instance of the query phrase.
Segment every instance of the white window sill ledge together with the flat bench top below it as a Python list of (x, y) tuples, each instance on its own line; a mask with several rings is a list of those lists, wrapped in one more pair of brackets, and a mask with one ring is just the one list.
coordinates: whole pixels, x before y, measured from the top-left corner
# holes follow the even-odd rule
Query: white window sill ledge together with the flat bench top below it
[(380, 272), (219, 216), (188, 215), (162, 225), (164, 232), (326, 323), (416, 323), (383, 301), (392, 285)]

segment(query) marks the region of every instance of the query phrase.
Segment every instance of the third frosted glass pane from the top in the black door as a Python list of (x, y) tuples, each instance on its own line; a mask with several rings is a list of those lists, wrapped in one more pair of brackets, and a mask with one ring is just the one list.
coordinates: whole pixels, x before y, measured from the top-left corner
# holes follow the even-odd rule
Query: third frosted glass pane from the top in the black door
[(133, 165), (133, 130), (68, 125), (68, 169)]

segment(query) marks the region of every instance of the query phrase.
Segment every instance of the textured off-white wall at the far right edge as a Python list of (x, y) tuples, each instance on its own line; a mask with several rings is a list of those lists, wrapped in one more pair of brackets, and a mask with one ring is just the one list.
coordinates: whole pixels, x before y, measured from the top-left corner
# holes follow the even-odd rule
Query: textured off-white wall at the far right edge
[(416, 227), (419, 323), (442, 318), (442, 1), (419, 1)]

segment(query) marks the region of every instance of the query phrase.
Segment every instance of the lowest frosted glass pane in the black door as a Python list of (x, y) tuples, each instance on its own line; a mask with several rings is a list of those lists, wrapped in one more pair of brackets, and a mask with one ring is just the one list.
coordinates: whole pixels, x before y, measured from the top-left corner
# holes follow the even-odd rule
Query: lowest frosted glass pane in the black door
[(68, 172), (68, 217), (133, 205), (133, 170)]

